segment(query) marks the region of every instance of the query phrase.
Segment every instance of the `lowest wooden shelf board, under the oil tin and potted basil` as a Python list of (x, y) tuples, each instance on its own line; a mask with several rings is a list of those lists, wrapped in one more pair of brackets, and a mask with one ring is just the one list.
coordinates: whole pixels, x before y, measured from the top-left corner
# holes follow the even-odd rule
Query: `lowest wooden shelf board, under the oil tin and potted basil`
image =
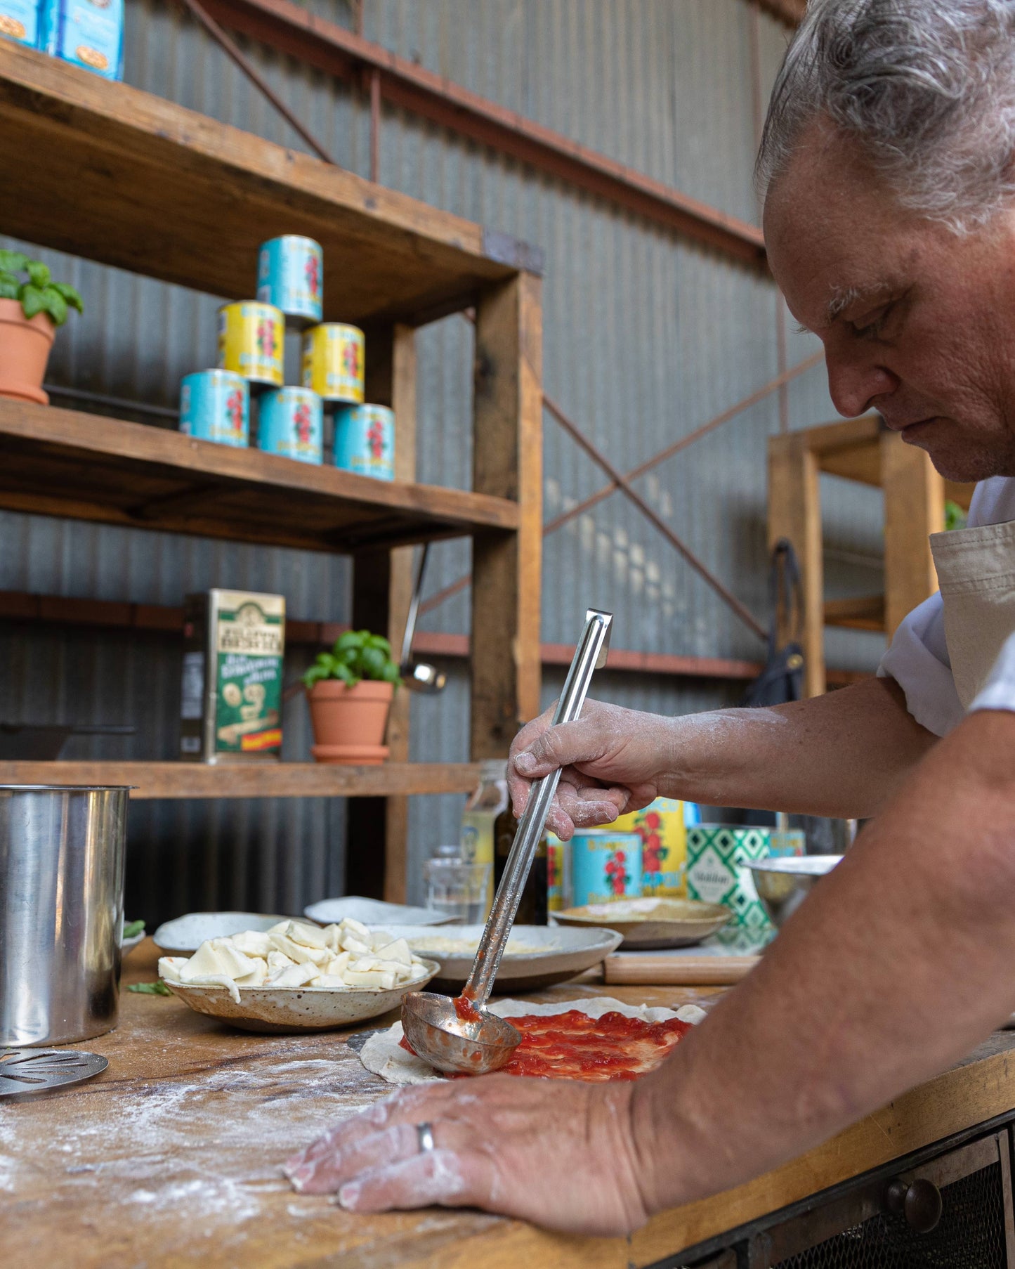
[(0, 761), (0, 784), (132, 784), (131, 797), (392, 797), (471, 793), (478, 763), (22, 763)]

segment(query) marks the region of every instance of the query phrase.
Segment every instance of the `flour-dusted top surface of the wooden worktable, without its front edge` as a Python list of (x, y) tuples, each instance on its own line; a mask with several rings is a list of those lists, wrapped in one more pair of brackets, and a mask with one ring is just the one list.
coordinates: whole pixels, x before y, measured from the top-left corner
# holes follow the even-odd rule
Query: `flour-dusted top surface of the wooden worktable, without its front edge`
[[(124, 962), (124, 985), (155, 978), (155, 959), (146, 940)], [(596, 994), (585, 981), (533, 999)], [(670, 1004), (702, 992), (638, 995)], [(103, 1075), (0, 1103), (5, 1263), (381, 1269), (430, 1255), (436, 1263), (443, 1247), (486, 1231), (499, 1241), (513, 1222), (440, 1209), (354, 1216), (326, 1197), (293, 1193), (282, 1161), (391, 1093), (346, 1034), (251, 1036), (175, 997), (124, 991), (119, 1028), (72, 1046), (105, 1055)]]

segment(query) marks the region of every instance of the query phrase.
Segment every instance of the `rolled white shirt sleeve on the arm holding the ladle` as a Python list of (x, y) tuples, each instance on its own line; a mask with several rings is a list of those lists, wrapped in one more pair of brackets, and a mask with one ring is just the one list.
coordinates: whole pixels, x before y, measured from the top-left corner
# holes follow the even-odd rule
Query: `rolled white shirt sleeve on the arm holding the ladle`
[(952, 678), (940, 594), (933, 594), (902, 619), (881, 659), (878, 678), (896, 680), (906, 695), (906, 708), (935, 736), (946, 735), (962, 722), (964, 711)]

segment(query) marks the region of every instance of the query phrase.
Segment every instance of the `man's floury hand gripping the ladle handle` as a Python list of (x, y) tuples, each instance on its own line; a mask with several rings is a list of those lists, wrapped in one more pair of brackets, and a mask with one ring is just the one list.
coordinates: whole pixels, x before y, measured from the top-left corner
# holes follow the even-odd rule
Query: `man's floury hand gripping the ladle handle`
[(671, 720), (587, 700), (576, 722), (551, 726), (553, 707), (521, 728), (508, 760), (516, 816), (533, 780), (561, 768), (547, 825), (567, 841), (576, 829), (612, 824), (648, 806), (672, 753)]

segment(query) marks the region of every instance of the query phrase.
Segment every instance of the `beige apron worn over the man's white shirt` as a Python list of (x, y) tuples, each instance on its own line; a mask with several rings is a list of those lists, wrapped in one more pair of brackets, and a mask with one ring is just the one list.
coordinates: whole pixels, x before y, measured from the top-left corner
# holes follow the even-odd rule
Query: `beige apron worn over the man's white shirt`
[(1015, 631), (1015, 520), (931, 533), (944, 637), (964, 709)]

